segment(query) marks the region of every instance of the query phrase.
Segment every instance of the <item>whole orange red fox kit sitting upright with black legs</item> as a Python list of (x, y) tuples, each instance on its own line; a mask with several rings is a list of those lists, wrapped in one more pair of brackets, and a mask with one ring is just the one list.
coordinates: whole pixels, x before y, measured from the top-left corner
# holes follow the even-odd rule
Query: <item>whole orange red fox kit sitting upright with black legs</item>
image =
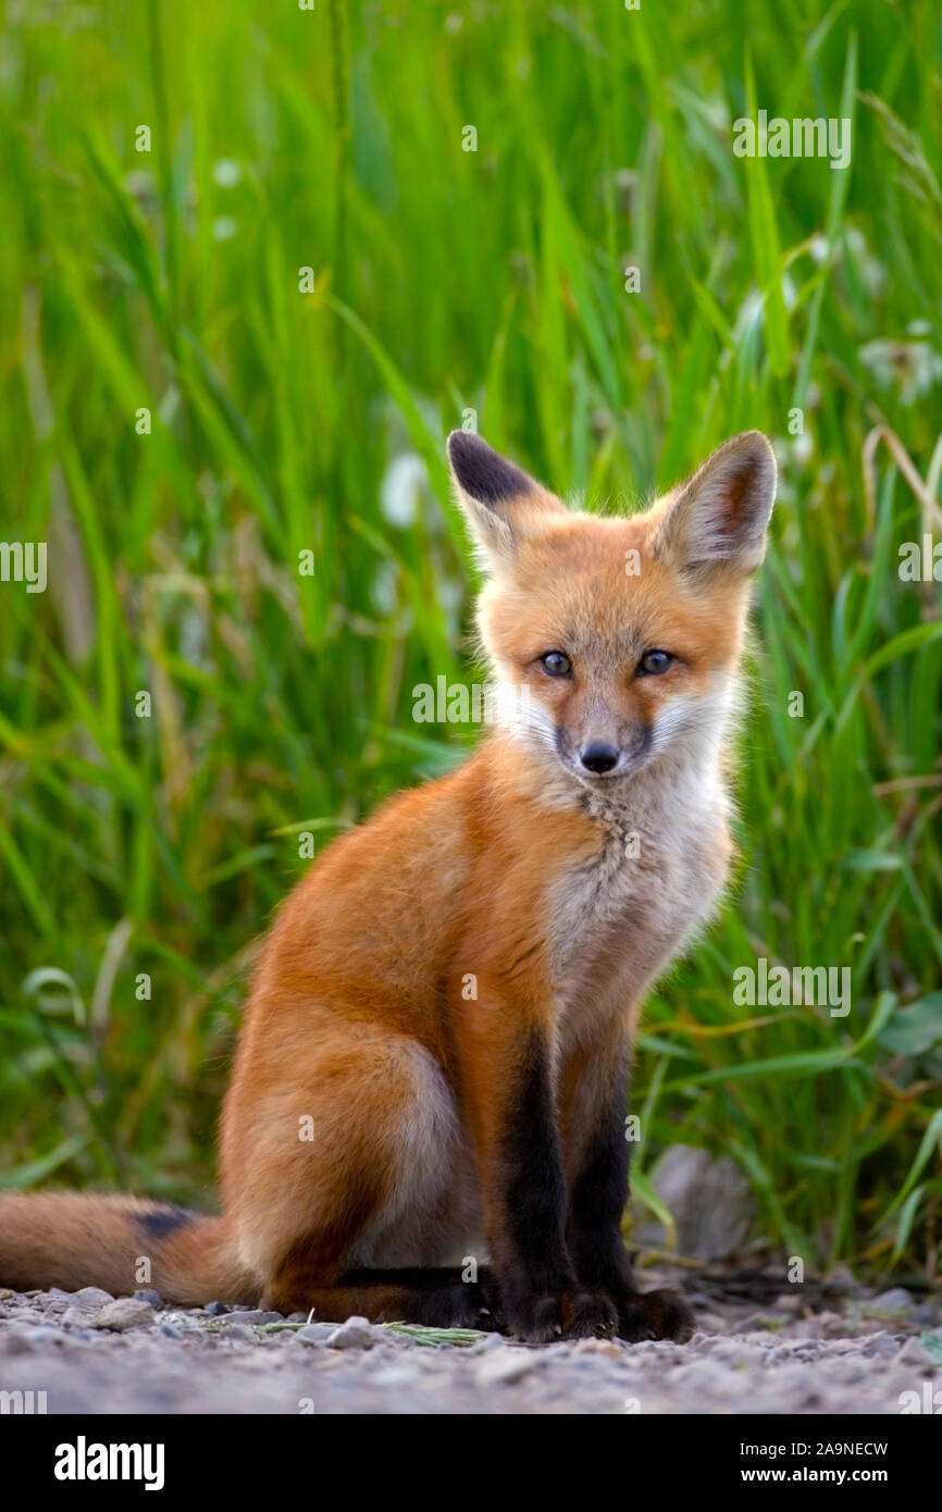
[(773, 451), (738, 435), (615, 519), (567, 510), (476, 435), (448, 449), (488, 572), (481, 641), (528, 699), (283, 904), (222, 1110), (222, 1216), (5, 1196), (0, 1284), (127, 1293), (148, 1258), (171, 1302), (688, 1335), (620, 1237), (627, 1077), (643, 998), (727, 872)]

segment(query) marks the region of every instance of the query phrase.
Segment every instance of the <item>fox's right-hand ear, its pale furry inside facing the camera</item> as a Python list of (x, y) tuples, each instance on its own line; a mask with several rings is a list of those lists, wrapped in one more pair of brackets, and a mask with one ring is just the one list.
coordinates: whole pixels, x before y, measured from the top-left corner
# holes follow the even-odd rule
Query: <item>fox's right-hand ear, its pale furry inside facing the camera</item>
[(653, 552), (691, 575), (720, 567), (751, 573), (765, 555), (774, 500), (776, 454), (762, 431), (744, 431), (670, 494)]

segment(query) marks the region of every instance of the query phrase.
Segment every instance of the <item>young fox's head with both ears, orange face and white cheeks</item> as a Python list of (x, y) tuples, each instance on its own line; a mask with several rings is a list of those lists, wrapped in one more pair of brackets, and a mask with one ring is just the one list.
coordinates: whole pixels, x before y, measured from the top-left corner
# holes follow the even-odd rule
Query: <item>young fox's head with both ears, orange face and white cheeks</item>
[(715, 754), (776, 496), (768, 440), (735, 435), (627, 517), (566, 508), (466, 431), (448, 455), (488, 575), (481, 641), (499, 682), (526, 688), (523, 738), (609, 792), (667, 753)]

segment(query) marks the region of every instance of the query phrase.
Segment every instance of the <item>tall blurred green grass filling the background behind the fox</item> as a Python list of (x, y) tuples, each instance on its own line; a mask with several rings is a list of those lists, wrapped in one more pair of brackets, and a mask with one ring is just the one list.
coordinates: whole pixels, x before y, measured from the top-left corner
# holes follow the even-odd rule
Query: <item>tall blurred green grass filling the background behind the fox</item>
[[(683, 1140), (788, 1253), (933, 1272), (942, 620), (897, 569), (942, 540), (940, 27), (924, 0), (8, 5), (3, 535), (47, 540), (50, 581), (0, 584), (0, 1184), (210, 1201), (299, 833), (469, 739), (411, 720), (416, 683), (473, 676), (467, 410), (591, 508), (759, 426), (741, 875), (647, 1015), (635, 1208)], [(853, 118), (851, 168), (736, 159), (758, 107)], [(851, 1013), (735, 1007), (758, 956), (851, 966)]]

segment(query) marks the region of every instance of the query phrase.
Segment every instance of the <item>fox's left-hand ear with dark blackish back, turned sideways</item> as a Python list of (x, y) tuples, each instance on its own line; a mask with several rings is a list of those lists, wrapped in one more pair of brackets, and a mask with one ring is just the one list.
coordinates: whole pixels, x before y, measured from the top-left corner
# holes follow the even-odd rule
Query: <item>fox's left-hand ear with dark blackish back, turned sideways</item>
[(473, 431), (452, 431), (448, 460), (485, 570), (513, 567), (520, 541), (538, 529), (540, 517), (566, 513), (552, 493)]

